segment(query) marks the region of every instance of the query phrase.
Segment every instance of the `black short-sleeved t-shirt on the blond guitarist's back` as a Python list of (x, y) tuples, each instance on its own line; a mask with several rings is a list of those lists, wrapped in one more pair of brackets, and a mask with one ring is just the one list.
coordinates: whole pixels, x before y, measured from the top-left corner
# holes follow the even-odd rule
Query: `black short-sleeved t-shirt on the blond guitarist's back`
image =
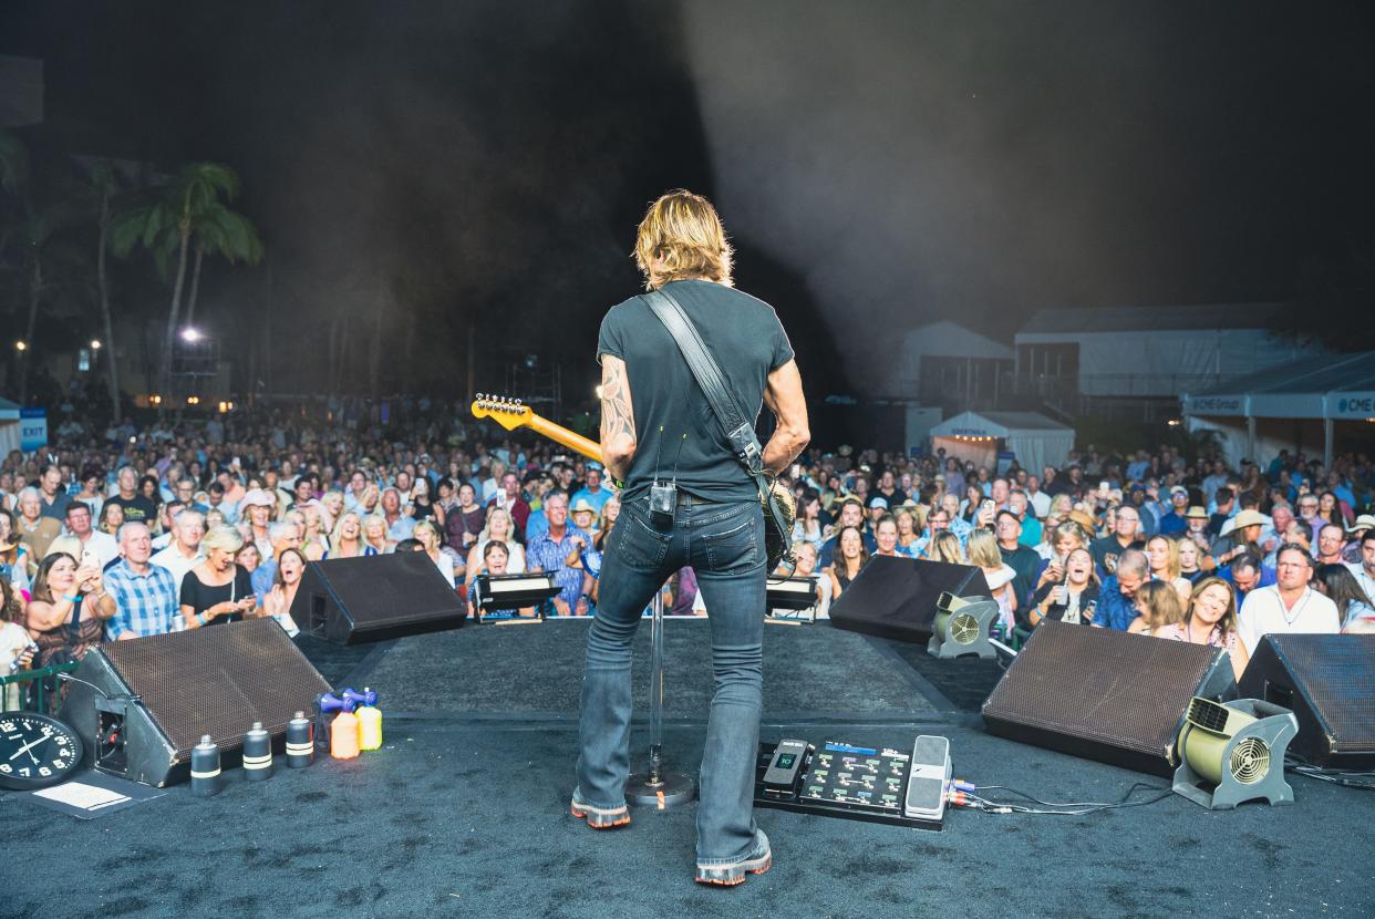
[[(740, 410), (758, 418), (769, 374), (793, 358), (773, 307), (710, 281), (674, 281), (664, 290), (697, 326)], [(602, 355), (626, 362), (635, 409), (637, 446), (626, 499), (644, 494), (656, 471), (661, 479), (676, 477), (683, 491), (711, 501), (759, 497), (676, 341), (649, 304), (631, 297), (610, 308), (597, 340), (598, 360)]]

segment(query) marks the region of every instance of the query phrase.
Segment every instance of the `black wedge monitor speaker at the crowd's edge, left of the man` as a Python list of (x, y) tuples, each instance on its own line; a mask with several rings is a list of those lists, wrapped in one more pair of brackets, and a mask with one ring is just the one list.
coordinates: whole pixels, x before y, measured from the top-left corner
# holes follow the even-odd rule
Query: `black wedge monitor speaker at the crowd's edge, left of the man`
[(292, 603), (301, 631), (338, 645), (458, 629), (466, 616), (424, 552), (311, 561)]

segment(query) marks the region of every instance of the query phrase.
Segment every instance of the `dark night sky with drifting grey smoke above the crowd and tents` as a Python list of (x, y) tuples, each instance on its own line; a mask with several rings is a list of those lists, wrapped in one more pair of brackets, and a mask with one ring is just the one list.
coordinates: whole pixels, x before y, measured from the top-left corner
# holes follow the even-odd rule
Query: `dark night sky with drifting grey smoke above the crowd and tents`
[[(47, 131), (234, 165), (302, 345), (382, 299), (428, 385), (469, 321), (590, 376), (675, 186), (714, 195), (814, 392), (872, 389), (886, 329), (1283, 300), (1375, 252), (1370, 4), (3, 10), (0, 51), (47, 62)], [(257, 275), (212, 301), (256, 321)]]

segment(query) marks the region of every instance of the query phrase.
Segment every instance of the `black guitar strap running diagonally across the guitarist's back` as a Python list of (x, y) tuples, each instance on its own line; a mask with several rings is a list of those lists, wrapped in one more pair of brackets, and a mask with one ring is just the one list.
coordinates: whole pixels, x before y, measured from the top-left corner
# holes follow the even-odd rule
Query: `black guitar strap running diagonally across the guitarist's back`
[(764, 472), (763, 447), (755, 435), (755, 425), (740, 410), (740, 404), (726, 387), (726, 378), (720, 373), (716, 360), (707, 351), (697, 326), (683, 311), (682, 305), (666, 290), (650, 290), (642, 294), (649, 308), (659, 316), (659, 321), (668, 329), (668, 334), (678, 343), (688, 369), (701, 387), (703, 395), (711, 404), (711, 410), (726, 432), (726, 439), (736, 451), (736, 458), (745, 466), (745, 472), (759, 487), (759, 501), (764, 512), (773, 517), (774, 527), (782, 538), (782, 557), (792, 557), (792, 528), (785, 524), (784, 513), (778, 508), (778, 501), (773, 495), (769, 476)]

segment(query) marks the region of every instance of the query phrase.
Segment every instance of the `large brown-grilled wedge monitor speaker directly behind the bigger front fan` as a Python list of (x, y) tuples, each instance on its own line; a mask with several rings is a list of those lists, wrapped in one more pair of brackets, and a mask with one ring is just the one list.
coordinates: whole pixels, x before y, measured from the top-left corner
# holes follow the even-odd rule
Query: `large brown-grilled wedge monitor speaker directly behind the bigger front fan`
[(1236, 698), (1221, 648), (1044, 620), (983, 703), (1000, 737), (1169, 776), (1195, 696)]

